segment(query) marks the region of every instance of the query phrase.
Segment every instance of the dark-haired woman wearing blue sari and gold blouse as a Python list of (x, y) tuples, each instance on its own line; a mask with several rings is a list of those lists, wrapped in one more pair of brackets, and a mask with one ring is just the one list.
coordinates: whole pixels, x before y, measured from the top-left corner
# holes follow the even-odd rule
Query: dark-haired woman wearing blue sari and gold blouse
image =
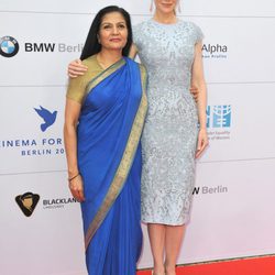
[(95, 18), (70, 79), (64, 138), (69, 188), (81, 202), (89, 275), (133, 275), (142, 248), (141, 145), (146, 73), (129, 59), (130, 15), (107, 7)]

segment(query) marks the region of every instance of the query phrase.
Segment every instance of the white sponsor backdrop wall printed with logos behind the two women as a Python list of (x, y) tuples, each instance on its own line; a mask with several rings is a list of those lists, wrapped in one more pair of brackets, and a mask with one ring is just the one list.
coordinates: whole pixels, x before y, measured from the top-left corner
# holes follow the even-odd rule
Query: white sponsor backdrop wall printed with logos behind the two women
[[(0, 55), (1, 275), (86, 274), (80, 209), (66, 182), (66, 67), (79, 56), (100, 8), (122, 6), (134, 24), (152, 14), (148, 0), (79, 3), (0, 3), (0, 40), (12, 36), (19, 45), (15, 56)], [(206, 36), (210, 146), (197, 164), (191, 221), (178, 263), (273, 254), (274, 1), (185, 0), (179, 16), (199, 24)], [(34, 110), (41, 107), (57, 112), (44, 132)], [(40, 196), (31, 217), (15, 202), (25, 193)], [(143, 229), (139, 268), (152, 266)]]

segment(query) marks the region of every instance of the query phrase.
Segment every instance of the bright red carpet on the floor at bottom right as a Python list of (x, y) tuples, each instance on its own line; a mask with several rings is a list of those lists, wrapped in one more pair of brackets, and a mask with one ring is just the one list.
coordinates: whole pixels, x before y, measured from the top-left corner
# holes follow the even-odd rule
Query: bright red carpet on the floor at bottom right
[[(151, 271), (138, 275), (151, 275)], [(178, 266), (177, 275), (275, 275), (275, 255)]]

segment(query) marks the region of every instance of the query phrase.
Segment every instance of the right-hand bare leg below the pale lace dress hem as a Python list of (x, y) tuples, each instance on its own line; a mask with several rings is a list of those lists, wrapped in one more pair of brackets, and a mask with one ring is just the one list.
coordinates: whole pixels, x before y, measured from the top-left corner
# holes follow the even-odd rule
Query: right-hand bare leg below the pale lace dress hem
[(165, 274), (176, 275), (176, 262), (183, 243), (185, 226), (166, 226)]

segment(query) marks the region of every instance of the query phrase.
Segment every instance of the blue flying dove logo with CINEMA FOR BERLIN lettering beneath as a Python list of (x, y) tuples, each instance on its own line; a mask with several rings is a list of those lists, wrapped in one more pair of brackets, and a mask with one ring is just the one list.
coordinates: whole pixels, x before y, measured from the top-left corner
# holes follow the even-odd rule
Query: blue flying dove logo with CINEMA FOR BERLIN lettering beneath
[[(43, 106), (40, 108), (30, 108), (33, 113), (33, 123), (37, 122), (37, 130), (32, 133), (24, 132), (21, 135), (28, 135), (28, 138), (10, 138), (7, 140), (0, 140), (0, 152), (16, 151), (20, 156), (28, 157), (42, 157), (42, 156), (61, 156), (64, 155), (63, 138), (56, 135), (55, 122), (57, 119), (57, 111), (50, 110)], [(37, 118), (37, 119), (36, 119)], [(30, 123), (30, 121), (28, 122)], [(15, 128), (16, 125), (14, 125)], [(50, 131), (51, 130), (51, 131)], [(33, 138), (32, 138), (33, 136)]]

